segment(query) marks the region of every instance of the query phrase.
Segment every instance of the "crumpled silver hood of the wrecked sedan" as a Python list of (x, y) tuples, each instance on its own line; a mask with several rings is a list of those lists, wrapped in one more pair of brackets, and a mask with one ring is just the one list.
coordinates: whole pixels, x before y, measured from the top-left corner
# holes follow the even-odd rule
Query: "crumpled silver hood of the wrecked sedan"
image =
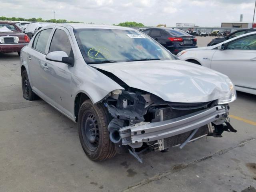
[[(181, 60), (91, 64), (169, 102), (209, 102), (230, 92), (224, 74)], [(107, 86), (107, 85), (106, 85)]]

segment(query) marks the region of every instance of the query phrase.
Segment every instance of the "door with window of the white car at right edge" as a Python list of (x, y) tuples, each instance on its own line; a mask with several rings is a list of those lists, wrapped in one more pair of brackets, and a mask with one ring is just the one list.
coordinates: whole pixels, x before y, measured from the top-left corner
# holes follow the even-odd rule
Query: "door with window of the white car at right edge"
[(216, 50), (211, 68), (226, 74), (238, 88), (256, 90), (256, 35), (229, 42)]

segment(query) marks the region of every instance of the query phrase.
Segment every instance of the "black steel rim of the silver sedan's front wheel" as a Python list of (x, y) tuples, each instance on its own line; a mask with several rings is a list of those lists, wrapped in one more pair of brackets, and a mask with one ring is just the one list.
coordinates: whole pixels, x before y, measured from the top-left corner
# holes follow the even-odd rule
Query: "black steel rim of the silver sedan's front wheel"
[(82, 137), (90, 151), (95, 151), (98, 148), (100, 139), (98, 121), (92, 112), (87, 112), (84, 115), (82, 122)]

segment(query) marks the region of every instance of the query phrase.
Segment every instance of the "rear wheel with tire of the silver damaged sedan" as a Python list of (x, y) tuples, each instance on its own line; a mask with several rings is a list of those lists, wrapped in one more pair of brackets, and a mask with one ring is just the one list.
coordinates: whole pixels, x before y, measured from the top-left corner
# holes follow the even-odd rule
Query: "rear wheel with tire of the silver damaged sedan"
[(32, 100), (39, 99), (39, 97), (32, 91), (26, 70), (23, 70), (21, 73), (21, 83), (22, 83), (23, 97), (26, 100), (32, 101)]

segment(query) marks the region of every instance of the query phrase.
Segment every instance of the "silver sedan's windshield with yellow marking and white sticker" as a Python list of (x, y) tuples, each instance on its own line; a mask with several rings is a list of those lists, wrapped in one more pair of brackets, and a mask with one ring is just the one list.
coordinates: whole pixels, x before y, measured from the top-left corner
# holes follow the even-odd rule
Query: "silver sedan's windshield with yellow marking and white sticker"
[(135, 30), (76, 29), (74, 34), (87, 64), (175, 59), (154, 40)]

